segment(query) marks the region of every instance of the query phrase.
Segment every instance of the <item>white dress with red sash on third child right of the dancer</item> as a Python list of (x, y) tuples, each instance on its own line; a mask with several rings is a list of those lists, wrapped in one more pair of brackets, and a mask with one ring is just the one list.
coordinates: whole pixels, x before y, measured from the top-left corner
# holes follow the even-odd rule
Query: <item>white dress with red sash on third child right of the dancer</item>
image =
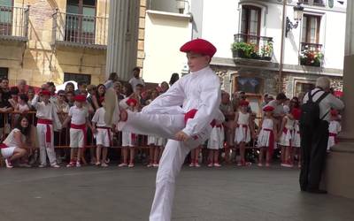
[(265, 118), (258, 134), (258, 148), (274, 148), (274, 122), (271, 118)]

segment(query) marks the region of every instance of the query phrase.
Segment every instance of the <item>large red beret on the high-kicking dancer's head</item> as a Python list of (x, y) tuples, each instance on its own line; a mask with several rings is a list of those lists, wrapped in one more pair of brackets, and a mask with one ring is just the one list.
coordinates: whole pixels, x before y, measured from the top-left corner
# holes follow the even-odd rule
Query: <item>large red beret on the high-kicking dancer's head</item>
[(183, 44), (180, 50), (182, 52), (194, 52), (207, 55), (209, 57), (213, 57), (216, 52), (216, 48), (211, 42), (205, 41), (201, 38)]

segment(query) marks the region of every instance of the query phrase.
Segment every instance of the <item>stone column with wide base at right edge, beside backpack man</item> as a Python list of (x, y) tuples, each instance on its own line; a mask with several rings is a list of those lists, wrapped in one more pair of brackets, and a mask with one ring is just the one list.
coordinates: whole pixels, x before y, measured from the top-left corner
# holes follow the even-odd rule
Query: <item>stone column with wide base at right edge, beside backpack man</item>
[(327, 156), (324, 184), (329, 194), (354, 199), (354, 3), (347, 1), (345, 34), (345, 57), (343, 68), (342, 133), (339, 143)]

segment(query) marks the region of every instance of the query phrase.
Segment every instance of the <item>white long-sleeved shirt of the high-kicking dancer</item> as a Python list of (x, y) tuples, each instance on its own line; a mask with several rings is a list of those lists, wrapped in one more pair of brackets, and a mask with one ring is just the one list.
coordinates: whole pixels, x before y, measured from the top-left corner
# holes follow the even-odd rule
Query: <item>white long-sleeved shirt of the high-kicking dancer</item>
[(145, 106), (142, 112), (153, 114), (158, 110), (166, 110), (169, 114), (173, 111), (181, 114), (197, 109), (196, 116), (189, 119), (183, 129), (184, 133), (191, 136), (202, 132), (205, 126), (212, 122), (212, 119), (224, 117), (219, 110), (220, 103), (219, 77), (207, 66), (177, 80), (164, 94), (159, 95), (148, 106)]

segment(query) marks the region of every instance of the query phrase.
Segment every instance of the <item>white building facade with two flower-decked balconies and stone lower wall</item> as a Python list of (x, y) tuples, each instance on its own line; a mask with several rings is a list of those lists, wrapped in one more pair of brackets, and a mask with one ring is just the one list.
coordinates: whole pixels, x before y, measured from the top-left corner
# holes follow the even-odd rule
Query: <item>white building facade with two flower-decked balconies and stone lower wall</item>
[(207, 39), (218, 49), (211, 65), (223, 88), (245, 91), (255, 108), (266, 93), (301, 96), (322, 75), (342, 90), (346, 1), (302, 1), (304, 15), (297, 24), (297, 0), (285, 5), (281, 0), (192, 0), (184, 11), (177, 6), (185, 1), (151, 2), (155, 10), (190, 16), (191, 38)]

